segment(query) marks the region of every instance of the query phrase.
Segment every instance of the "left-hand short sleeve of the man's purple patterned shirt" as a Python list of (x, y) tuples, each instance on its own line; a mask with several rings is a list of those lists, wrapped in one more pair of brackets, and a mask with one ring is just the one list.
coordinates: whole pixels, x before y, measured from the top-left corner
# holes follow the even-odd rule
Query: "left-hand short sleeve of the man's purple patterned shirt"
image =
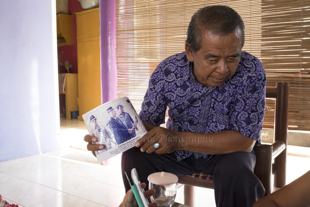
[(148, 89), (144, 95), (139, 117), (142, 122), (159, 126), (165, 123), (167, 104), (165, 100), (165, 80), (161, 64), (152, 73)]

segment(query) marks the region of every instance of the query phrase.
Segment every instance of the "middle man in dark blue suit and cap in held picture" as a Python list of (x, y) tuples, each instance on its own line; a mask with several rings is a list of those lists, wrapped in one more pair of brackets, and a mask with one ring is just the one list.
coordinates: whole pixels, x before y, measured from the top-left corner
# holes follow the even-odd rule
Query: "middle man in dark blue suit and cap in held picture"
[(110, 115), (108, 126), (111, 129), (117, 144), (122, 144), (123, 142), (130, 140), (131, 129), (126, 128), (122, 121), (116, 116), (116, 111), (112, 107), (109, 107), (107, 112)]

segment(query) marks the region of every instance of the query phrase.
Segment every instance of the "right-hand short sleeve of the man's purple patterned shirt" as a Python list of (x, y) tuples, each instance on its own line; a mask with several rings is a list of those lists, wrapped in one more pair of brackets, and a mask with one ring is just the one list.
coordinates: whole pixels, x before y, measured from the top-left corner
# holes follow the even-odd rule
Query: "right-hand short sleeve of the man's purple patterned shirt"
[[(254, 64), (253, 64), (254, 63)], [(235, 130), (260, 143), (266, 104), (266, 75), (261, 62), (252, 60), (237, 87), (230, 113), (229, 130)]]

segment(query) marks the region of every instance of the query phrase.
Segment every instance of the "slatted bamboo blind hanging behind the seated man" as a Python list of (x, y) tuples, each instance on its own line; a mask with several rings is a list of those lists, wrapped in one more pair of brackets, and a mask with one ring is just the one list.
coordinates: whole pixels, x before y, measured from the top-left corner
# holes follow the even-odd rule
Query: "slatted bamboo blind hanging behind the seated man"
[[(266, 72), (291, 74), (309, 68), (310, 0), (115, 3), (117, 96), (129, 97), (138, 113), (151, 73), (163, 59), (184, 51), (188, 23), (201, 7), (227, 5), (236, 10), (245, 24), (242, 50), (257, 56)], [(268, 76), (267, 86), (274, 87), (276, 82), (283, 81), (282, 76)], [(310, 79), (287, 77), (285, 81), (291, 85), (289, 125), (295, 130), (309, 130)], [(267, 107), (264, 127), (273, 128), (274, 115), (271, 106)]]

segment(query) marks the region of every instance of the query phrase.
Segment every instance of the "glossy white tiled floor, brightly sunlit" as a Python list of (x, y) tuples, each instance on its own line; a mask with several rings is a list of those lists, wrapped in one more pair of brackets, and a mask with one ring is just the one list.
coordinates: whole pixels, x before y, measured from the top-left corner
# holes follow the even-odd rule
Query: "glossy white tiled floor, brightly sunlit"
[[(74, 128), (70, 128), (74, 127)], [(0, 163), (0, 194), (9, 203), (32, 207), (117, 207), (124, 195), (120, 155), (100, 165), (83, 141), (83, 121), (61, 119), (61, 150)], [(291, 152), (290, 152), (291, 148)], [(288, 147), (289, 153), (309, 152)], [(310, 158), (288, 156), (287, 183), (310, 170)], [(175, 201), (183, 203), (183, 187)], [(195, 188), (196, 206), (214, 207), (214, 190)]]

